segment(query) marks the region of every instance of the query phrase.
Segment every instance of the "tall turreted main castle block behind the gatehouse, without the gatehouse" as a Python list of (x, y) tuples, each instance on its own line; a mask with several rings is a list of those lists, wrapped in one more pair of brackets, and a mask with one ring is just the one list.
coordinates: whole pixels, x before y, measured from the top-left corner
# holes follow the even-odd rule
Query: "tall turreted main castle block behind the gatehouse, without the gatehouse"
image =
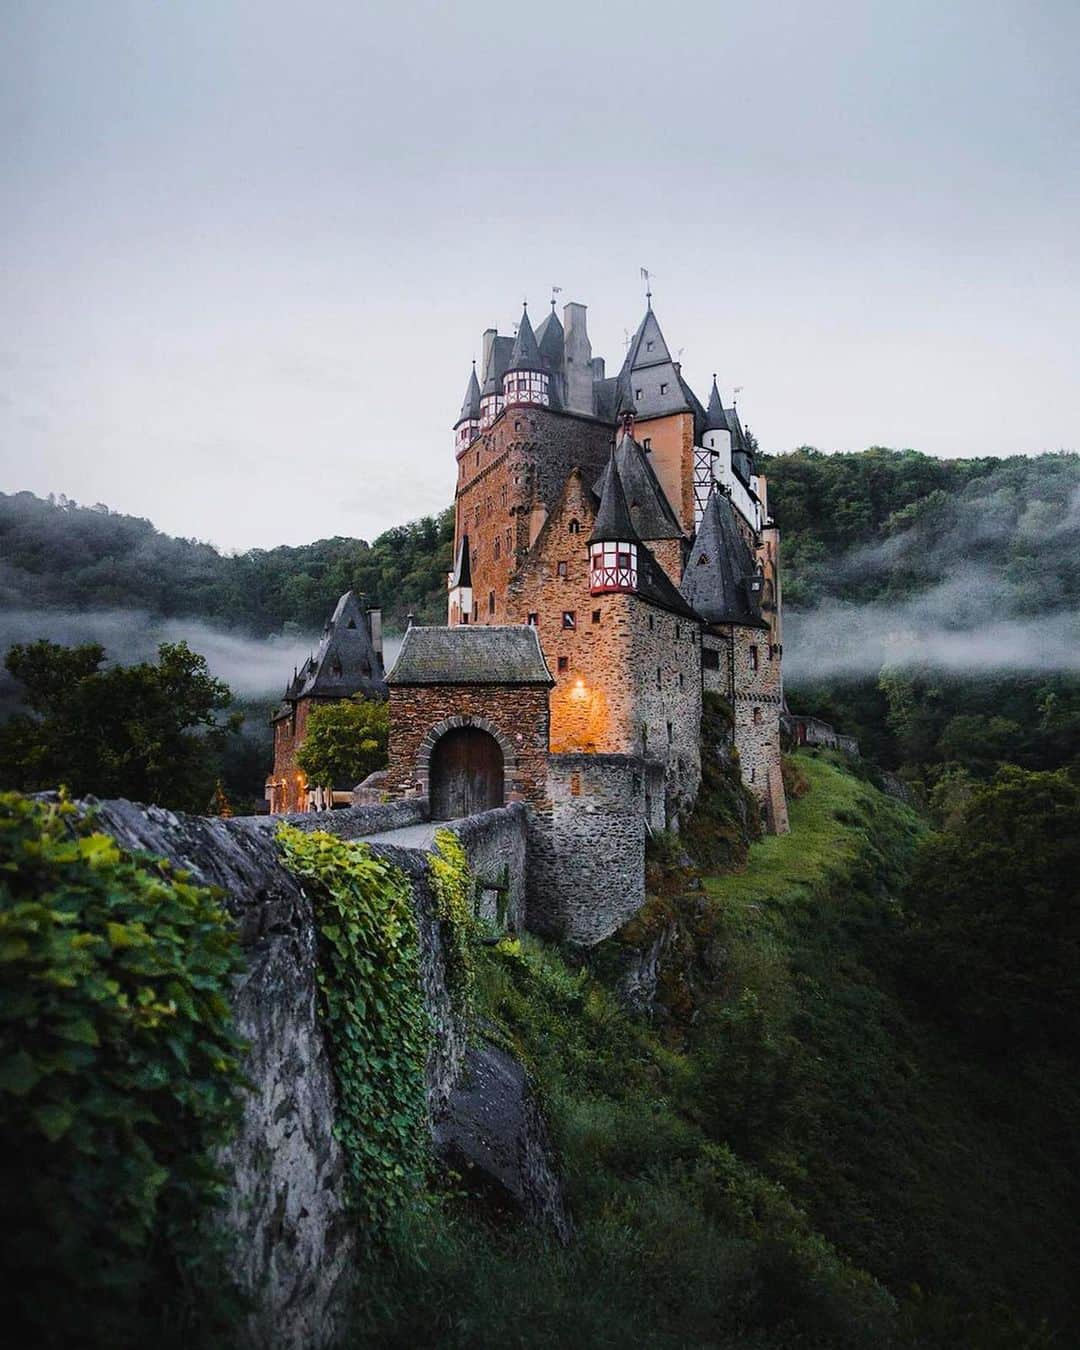
[(448, 622), (536, 626), (551, 751), (663, 760), (670, 824), (697, 791), (701, 691), (724, 694), (783, 830), (779, 533), (752, 441), (716, 378), (697, 398), (651, 304), (612, 377), (585, 305), (563, 315), (483, 335), (454, 427)]

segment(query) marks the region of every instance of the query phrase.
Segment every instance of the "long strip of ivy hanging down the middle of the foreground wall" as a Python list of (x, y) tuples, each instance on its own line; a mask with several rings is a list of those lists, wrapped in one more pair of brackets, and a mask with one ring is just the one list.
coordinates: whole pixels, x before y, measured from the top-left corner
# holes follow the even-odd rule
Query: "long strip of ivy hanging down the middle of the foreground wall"
[(431, 1022), (412, 887), (363, 842), (289, 825), (277, 840), (315, 906), (320, 1008), (339, 1094), (335, 1134), (354, 1206), (374, 1237), (416, 1197), (427, 1170)]

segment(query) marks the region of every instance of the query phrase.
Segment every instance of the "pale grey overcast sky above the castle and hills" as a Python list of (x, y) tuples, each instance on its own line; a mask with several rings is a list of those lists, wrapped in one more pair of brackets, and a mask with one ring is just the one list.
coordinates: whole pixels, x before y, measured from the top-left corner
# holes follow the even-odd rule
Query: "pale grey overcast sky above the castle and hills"
[(0, 489), (223, 548), (454, 490), (639, 267), (771, 451), (1077, 448), (1077, 0), (0, 0)]

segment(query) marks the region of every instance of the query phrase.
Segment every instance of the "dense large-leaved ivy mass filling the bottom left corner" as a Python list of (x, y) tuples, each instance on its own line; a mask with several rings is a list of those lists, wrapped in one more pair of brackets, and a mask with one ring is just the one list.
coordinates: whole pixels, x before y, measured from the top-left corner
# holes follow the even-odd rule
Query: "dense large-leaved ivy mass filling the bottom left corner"
[(127, 853), (65, 799), (0, 794), (12, 1343), (174, 1343), (227, 1318), (221, 1239), (201, 1220), (239, 1114), (240, 968), (212, 891)]

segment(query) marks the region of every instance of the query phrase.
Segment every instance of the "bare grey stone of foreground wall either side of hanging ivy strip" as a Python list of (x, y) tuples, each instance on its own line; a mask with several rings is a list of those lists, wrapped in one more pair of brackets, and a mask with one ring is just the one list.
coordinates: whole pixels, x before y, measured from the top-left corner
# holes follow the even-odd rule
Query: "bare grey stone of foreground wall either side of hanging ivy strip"
[[(251, 1350), (333, 1346), (347, 1332), (356, 1238), (346, 1204), (346, 1160), (333, 1134), (333, 1072), (317, 1015), (315, 917), (302, 887), (281, 865), (278, 822), (192, 817), (123, 801), (93, 805), (96, 826), (122, 846), (166, 857), (219, 887), (236, 922), (247, 969), (235, 987), (234, 1010), (250, 1044), (251, 1091), (223, 1164), (232, 1177), (224, 1218), (236, 1239), (234, 1273), (252, 1304), (243, 1342)], [(373, 810), (386, 811), (351, 809), (292, 824), (355, 838), (370, 832)], [(392, 825), (382, 817), (378, 824)], [(467, 1052), (468, 1027), (447, 986), (427, 857), (385, 842), (371, 848), (412, 882), (433, 1029), (427, 1096), (435, 1139), (489, 1176), (528, 1218), (552, 1223), (566, 1237), (547, 1130), (524, 1071), (502, 1052)]]

